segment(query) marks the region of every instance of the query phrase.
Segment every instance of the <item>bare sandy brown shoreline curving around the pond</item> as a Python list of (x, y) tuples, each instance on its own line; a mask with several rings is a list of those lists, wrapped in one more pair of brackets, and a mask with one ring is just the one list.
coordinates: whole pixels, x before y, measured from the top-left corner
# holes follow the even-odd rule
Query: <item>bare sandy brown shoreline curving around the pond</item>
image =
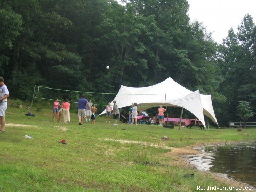
[[(189, 155), (202, 154), (202, 151), (199, 151), (198, 149), (206, 147), (206, 146), (224, 146), (224, 145), (239, 145), (239, 144), (241, 145), (244, 143), (247, 143), (247, 142), (225, 142), (225, 143), (211, 142), (211, 143), (205, 143), (205, 144), (197, 143), (195, 145), (188, 145), (183, 148), (173, 148), (173, 150), (171, 152), (166, 153), (166, 155), (171, 156), (173, 158), (174, 165), (194, 167), (196, 170), (201, 171), (203, 173), (210, 173), (214, 179), (216, 179), (220, 182), (223, 182), (228, 186), (236, 186), (236, 187), (243, 187), (243, 188), (256, 187), (256, 186), (252, 186), (247, 183), (229, 178), (227, 174), (199, 170), (199, 169), (197, 169), (196, 165), (190, 163), (188, 160)], [(256, 190), (250, 190), (250, 191), (256, 191)]]

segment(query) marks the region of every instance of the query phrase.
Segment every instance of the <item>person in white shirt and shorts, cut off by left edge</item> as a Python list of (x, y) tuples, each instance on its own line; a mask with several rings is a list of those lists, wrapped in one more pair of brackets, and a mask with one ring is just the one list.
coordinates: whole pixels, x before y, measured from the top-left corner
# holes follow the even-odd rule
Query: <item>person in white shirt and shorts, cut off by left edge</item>
[(9, 91), (7, 86), (4, 84), (4, 78), (0, 77), (0, 120), (1, 130), (5, 132), (5, 111), (7, 109), (7, 98), (9, 97)]

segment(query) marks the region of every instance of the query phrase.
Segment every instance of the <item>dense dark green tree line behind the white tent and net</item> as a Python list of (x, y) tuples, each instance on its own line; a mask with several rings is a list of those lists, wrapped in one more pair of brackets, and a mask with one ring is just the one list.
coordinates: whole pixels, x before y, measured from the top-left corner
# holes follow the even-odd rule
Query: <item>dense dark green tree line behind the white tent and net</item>
[(21, 99), (35, 84), (116, 93), (171, 77), (211, 94), (226, 124), (237, 100), (256, 104), (255, 25), (246, 15), (217, 45), (188, 9), (186, 0), (0, 0), (0, 73)]

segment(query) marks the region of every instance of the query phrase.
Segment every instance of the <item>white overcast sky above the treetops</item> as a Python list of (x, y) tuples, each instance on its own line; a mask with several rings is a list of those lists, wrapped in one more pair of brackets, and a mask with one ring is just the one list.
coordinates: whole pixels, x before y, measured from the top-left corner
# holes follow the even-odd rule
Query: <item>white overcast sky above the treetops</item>
[(188, 0), (190, 20), (201, 22), (217, 43), (227, 37), (228, 30), (237, 27), (246, 14), (256, 23), (256, 0)]

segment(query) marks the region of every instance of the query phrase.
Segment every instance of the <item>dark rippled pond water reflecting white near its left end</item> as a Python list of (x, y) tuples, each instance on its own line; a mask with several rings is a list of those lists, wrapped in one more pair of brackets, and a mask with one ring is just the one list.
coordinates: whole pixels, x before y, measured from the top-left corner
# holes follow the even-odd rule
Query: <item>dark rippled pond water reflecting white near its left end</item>
[(188, 157), (197, 169), (256, 186), (256, 145), (207, 146), (199, 150), (202, 154)]

